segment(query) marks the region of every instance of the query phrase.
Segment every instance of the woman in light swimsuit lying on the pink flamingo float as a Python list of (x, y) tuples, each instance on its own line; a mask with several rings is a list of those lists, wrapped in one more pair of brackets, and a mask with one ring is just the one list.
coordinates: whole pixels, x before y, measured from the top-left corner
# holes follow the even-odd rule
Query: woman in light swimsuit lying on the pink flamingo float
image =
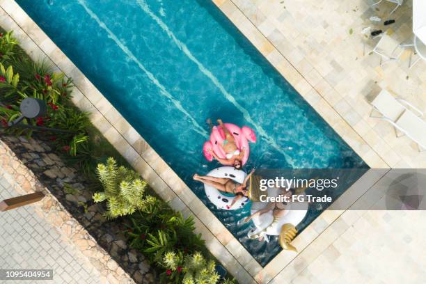
[(223, 129), (223, 133), (225, 134), (225, 140), (223, 140), (222, 148), (226, 152), (226, 158), (221, 159), (217, 157), (216, 154), (212, 150), (210, 150), (210, 154), (219, 161), (219, 163), (227, 166), (234, 166), (237, 170), (242, 168), (242, 159), (244, 157), (245, 148), (242, 148), (240, 151), (235, 143), (234, 136), (229, 132), (228, 128), (223, 125), (221, 119), (218, 119), (219, 127)]

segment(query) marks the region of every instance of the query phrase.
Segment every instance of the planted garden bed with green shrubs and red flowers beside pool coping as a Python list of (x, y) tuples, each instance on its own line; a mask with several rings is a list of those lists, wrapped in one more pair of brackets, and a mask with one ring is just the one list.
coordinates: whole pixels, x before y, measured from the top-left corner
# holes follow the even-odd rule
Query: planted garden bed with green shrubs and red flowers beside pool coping
[[(218, 283), (214, 261), (208, 260), (213, 259), (212, 255), (200, 236), (194, 234), (192, 219), (184, 219), (174, 212), (145, 186), (145, 182), (141, 181), (143, 188), (139, 196), (143, 204), (135, 205), (132, 210), (127, 208), (128, 204), (122, 204), (120, 210), (113, 210), (116, 197), (120, 195), (121, 180), (116, 183), (117, 190), (112, 190), (116, 196), (106, 198), (107, 187), (100, 182), (102, 176), (97, 176), (100, 173), (97, 164), (113, 157), (118, 165), (130, 166), (90, 124), (88, 113), (74, 107), (70, 101), (72, 79), (52, 72), (45, 63), (31, 61), (10, 33), (0, 35), (0, 63), (0, 120), (4, 127), (0, 130), (1, 139), (97, 243), (137, 283), (155, 283), (159, 279), (164, 283), (199, 283), (201, 279), (207, 281), (203, 283)], [(47, 113), (24, 119), (24, 125), (54, 127), (74, 133), (55, 134), (50, 130), (39, 132), (8, 127), (8, 123), (21, 115), (19, 104), (25, 97), (44, 101)], [(132, 179), (127, 181), (139, 180), (136, 173), (129, 173)], [(100, 193), (95, 194), (96, 191)], [(107, 200), (107, 206), (94, 203), (93, 196), (97, 201)], [(122, 202), (127, 197), (120, 198)], [(123, 216), (126, 214), (128, 216)], [(88, 257), (97, 261), (95, 255)]]

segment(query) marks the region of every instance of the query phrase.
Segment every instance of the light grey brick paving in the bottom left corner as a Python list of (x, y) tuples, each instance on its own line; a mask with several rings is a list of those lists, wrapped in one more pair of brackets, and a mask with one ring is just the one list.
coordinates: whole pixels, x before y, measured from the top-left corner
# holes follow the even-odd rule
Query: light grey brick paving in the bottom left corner
[[(1, 200), (18, 196), (0, 171)], [(29, 223), (31, 221), (31, 225)], [(54, 269), (53, 281), (26, 283), (101, 283), (100, 274), (61, 240), (50, 223), (40, 219), (31, 205), (0, 212), (0, 267), (1, 269)], [(41, 242), (35, 236), (45, 235)], [(65, 250), (65, 248), (68, 250)], [(71, 254), (69, 253), (71, 252)], [(79, 278), (79, 281), (77, 281)], [(90, 278), (88, 281), (86, 279)], [(0, 281), (1, 282), (1, 281)]]

